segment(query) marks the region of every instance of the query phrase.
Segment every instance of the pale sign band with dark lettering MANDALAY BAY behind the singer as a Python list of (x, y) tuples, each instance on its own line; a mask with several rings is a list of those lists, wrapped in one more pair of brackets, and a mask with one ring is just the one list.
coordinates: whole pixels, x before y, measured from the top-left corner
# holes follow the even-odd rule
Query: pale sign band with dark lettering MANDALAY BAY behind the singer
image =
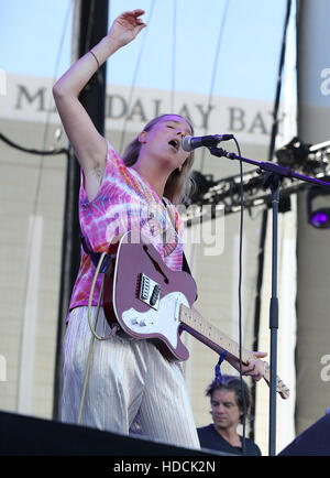
[[(1, 96), (0, 118), (59, 123), (50, 78), (8, 75)], [(174, 101), (173, 101), (174, 98)], [(108, 85), (106, 128), (138, 131), (152, 118), (175, 112), (189, 119), (197, 134), (233, 133), (240, 141), (267, 144), (272, 130), (273, 104), (246, 98), (213, 97), (191, 93)], [(278, 131), (286, 115), (280, 111)], [(287, 118), (286, 118), (287, 120)]]

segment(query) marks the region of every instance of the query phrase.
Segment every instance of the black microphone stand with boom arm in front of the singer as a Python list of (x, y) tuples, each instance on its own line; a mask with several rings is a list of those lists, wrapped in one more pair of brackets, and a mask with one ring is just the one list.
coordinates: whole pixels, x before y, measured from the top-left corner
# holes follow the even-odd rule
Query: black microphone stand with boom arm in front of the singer
[(263, 187), (270, 187), (272, 193), (273, 205), (273, 241), (272, 241), (272, 297), (270, 304), (270, 329), (271, 329), (271, 358), (270, 358), (270, 456), (275, 455), (276, 447), (276, 368), (277, 368), (277, 329), (278, 329), (278, 297), (277, 297), (277, 225), (278, 225), (278, 202), (279, 202), (279, 186), (283, 177), (290, 177), (307, 183), (312, 183), (321, 187), (330, 187), (329, 183), (316, 180), (314, 177), (304, 176), (295, 173), (288, 167), (270, 162), (256, 162), (246, 157), (239, 156), (234, 153), (229, 153), (226, 150), (217, 146), (209, 148), (212, 155), (218, 157), (228, 157), (229, 160), (239, 160), (244, 163), (257, 166), (257, 172), (262, 174), (265, 172)]

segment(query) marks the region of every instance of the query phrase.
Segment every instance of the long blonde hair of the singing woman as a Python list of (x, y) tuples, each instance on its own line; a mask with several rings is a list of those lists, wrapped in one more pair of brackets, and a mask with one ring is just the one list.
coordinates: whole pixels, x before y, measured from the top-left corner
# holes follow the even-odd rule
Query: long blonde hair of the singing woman
[[(179, 115), (161, 115), (152, 119), (143, 128), (143, 131), (152, 130), (152, 128), (155, 124), (157, 124), (164, 118), (169, 116), (177, 116), (178, 118), (183, 118)], [(194, 128), (190, 124), (190, 122), (186, 118), (183, 119), (187, 121), (187, 123), (191, 129), (191, 133), (194, 134)], [(132, 166), (138, 161), (140, 149), (141, 149), (141, 142), (139, 141), (139, 137), (136, 137), (131, 143), (127, 145), (122, 160), (128, 167)], [(194, 182), (191, 177), (193, 164), (194, 164), (194, 152), (191, 152), (189, 156), (186, 159), (186, 161), (184, 162), (182, 171), (178, 170), (173, 171), (167, 178), (165, 189), (164, 189), (164, 196), (167, 197), (167, 199), (169, 199), (175, 205), (185, 202), (185, 199), (187, 199), (187, 197), (189, 197), (189, 195), (193, 192), (194, 188)]]

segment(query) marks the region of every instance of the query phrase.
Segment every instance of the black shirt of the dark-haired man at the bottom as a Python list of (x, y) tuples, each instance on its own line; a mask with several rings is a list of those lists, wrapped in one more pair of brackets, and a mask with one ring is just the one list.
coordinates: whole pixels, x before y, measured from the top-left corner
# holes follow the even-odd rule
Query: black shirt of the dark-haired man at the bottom
[[(232, 446), (217, 432), (212, 424), (197, 428), (197, 433), (202, 448), (217, 449), (218, 452), (230, 453), (232, 455), (243, 455), (243, 445), (242, 447)], [(242, 436), (240, 438), (242, 442)], [(258, 446), (250, 438), (245, 438), (245, 455), (261, 456)]]

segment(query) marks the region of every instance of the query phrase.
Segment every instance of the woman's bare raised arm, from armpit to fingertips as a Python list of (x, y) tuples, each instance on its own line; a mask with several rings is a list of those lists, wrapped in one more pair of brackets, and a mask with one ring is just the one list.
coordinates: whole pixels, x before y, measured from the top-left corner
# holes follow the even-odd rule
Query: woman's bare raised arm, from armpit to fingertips
[(95, 196), (106, 166), (107, 143), (97, 131), (78, 96), (91, 76), (114, 52), (130, 43), (146, 26), (143, 10), (118, 17), (100, 43), (79, 58), (54, 85), (53, 95), (65, 132), (84, 170), (88, 196)]

